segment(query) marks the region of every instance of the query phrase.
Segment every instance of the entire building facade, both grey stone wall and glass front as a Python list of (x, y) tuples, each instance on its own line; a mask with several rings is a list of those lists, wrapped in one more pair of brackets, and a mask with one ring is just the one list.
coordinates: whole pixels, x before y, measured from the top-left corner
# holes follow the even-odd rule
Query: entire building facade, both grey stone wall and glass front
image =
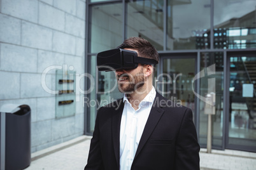
[(127, 37), (159, 51), (154, 86), (192, 108), (206, 147), (256, 152), (255, 0), (0, 0), (0, 107), (31, 107), (31, 151), (92, 135), (97, 108), (122, 98), (96, 55)]

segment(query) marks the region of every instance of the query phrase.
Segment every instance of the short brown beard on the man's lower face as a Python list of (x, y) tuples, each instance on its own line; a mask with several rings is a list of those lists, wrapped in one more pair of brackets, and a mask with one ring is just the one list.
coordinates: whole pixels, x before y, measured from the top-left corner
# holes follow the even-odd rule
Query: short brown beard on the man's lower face
[(133, 93), (145, 84), (143, 69), (134, 77), (131, 77), (129, 74), (122, 74), (119, 77), (128, 79), (128, 81), (118, 83), (118, 89), (121, 93)]

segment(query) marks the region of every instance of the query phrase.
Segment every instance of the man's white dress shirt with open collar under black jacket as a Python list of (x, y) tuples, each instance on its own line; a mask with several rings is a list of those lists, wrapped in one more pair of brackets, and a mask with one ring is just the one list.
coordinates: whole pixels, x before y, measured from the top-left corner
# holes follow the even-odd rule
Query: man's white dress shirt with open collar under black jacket
[(120, 170), (131, 169), (155, 95), (155, 88), (152, 86), (150, 93), (139, 103), (138, 110), (134, 110), (127, 96), (124, 95), (124, 110), (120, 126)]

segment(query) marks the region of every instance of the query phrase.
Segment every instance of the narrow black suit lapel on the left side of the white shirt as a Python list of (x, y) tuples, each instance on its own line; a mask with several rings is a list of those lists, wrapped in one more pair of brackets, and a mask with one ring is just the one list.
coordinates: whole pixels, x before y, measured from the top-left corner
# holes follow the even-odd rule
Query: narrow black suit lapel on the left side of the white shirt
[(112, 137), (113, 137), (113, 147), (115, 152), (115, 158), (119, 167), (120, 161), (120, 124), (122, 112), (124, 109), (123, 100), (117, 100), (117, 105), (114, 107), (112, 116)]

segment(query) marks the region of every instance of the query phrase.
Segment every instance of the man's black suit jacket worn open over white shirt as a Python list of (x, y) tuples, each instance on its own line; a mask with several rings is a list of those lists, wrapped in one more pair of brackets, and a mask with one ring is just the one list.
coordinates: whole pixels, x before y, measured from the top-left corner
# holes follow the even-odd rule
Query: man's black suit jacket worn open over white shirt
[[(86, 170), (119, 169), (122, 99), (99, 108)], [(132, 162), (132, 170), (199, 169), (192, 110), (157, 93)]]

